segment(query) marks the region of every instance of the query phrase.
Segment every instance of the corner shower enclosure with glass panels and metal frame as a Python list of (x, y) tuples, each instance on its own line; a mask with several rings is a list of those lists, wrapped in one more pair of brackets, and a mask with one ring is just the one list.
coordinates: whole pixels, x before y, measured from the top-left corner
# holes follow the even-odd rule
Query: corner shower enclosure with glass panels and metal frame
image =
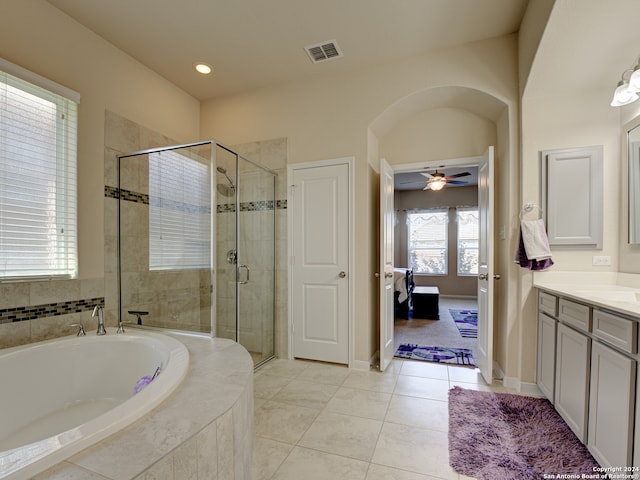
[(215, 141), (118, 157), (126, 324), (208, 333), (275, 354), (276, 175)]

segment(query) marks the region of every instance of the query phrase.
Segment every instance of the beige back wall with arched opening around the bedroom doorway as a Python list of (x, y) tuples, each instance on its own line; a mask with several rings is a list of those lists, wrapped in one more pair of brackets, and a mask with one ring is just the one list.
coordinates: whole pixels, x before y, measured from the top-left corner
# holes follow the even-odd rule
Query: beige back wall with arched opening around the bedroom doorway
[[(354, 156), (355, 162), (355, 358), (375, 353), (377, 252), (375, 176), (377, 156), (372, 123), (396, 102), (441, 86), (485, 92), (515, 108), (518, 98), (516, 37), (506, 36), (439, 50), (402, 62), (343, 76), (278, 85), (205, 102), (202, 136), (226, 144), (286, 137), (289, 162)], [(509, 120), (515, 130), (515, 120)], [(374, 136), (376, 132), (373, 132)], [(505, 140), (512, 140), (504, 135)], [(514, 132), (514, 135), (517, 135)], [(452, 148), (452, 142), (442, 140)], [(512, 144), (508, 148), (513, 148)], [(505, 147), (507, 150), (508, 148)], [(511, 152), (512, 153), (512, 152)], [(505, 161), (513, 161), (512, 155)]]

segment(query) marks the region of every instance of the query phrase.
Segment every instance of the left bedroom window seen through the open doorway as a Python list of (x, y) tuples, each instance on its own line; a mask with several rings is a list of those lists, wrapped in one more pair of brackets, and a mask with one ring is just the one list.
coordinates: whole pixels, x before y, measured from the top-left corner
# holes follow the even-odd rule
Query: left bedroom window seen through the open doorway
[(409, 266), (425, 275), (447, 275), (448, 209), (407, 213)]

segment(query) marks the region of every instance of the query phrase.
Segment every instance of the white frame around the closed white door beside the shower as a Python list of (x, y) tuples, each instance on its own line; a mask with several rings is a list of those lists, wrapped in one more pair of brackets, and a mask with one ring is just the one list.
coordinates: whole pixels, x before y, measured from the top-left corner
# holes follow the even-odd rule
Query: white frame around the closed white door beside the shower
[(355, 238), (355, 214), (354, 214), (354, 205), (355, 205), (355, 175), (354, 175), (354, 163), (355, 157), (341, 157), (334, 158), (328, 160), (316, 160), (311, 162), (304, 163), (294, 163), (287, 165), (287, 358), (289, 360), (293, 360), (293, 269), (291, 268), (292, 257), (291, 252), (293, 251), (293, 221), (291, 215), (289, 214), (288, 206), (292, 203), (293, 191), (295, 189), (295, 185), (292, 185), (293, 174), (297, 170), (306, 170), (308, 168), (317, 168), (317, 167), (330, 167), (335, 165), (347, 165), (348, 175), (349, 175), (349, 195), (347, 206), (348, 215), (349, 215), (349, 230), (348, 234), (348, 243), (349, 243), (349, 271), (347, 274), (347, 282), (348, 282), (348, 298), (349, 298), (349, 307), (348, 307), (348, 322), (349, 322), (349, 339), (348, 339), (348, 347), (349, 347), (349, 368), (352, 368), (354, 365), (354, 354), (355, 354), (355, 335), (354, 335), (354, 324), (353, 319), (354, 316), (354, 286), (355, 286), (355, 245), (353, 239)]

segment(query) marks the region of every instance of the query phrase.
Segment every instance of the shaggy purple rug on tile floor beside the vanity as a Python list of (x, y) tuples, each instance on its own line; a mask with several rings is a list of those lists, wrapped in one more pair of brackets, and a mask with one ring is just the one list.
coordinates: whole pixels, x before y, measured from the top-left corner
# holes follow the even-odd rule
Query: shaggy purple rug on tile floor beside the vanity
[(598, 467), (547, 399), (460, 387), (449, 390), (449, 462), (478, 480), (584, 478)]

